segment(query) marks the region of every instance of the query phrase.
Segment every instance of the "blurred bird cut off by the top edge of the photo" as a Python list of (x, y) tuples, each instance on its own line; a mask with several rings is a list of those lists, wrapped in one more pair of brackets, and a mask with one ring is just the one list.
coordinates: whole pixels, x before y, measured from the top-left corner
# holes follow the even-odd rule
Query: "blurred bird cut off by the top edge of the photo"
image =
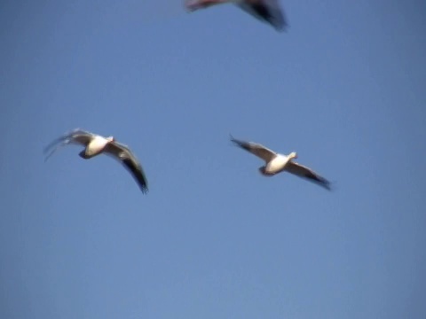
[(288, 27), (288, 21), (278, 0), (185, 0), (185, 8), (193, 12), (211, 5), (226, 3), (236, 4), (257, 19), (269, 23), (277, 31), (284, 31)]

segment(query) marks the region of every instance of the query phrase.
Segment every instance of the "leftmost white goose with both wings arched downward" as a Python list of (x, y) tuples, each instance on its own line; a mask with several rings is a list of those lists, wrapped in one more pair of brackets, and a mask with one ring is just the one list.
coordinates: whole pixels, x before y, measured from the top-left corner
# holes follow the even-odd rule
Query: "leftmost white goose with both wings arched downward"
[(146, 176), (138, 159), (133, 155), (129, 147), (116, 142), (114, 136), (99, 136), (84, 131), (83, 129), (76, 128), (66, 135), (57, 138), (44, 148), (44, 153), (49, 152), (45, 160), (49, 159), (60, 146), (65, 146), (67, 144), (81, 144), (85, 146), (84, 150), (79, 153), (82, 159), (91, 159), (101, 153), (114, 156), (115, 159), (120, 160), (124, 167), (130, 171), (138, 182), (140, 190), (143, 193), (148, 191)]

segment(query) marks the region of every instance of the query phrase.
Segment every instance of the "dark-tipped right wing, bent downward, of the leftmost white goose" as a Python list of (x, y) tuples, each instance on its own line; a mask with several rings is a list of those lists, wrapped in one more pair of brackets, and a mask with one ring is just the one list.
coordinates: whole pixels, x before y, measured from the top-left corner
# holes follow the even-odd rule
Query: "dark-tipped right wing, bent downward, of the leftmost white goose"
[(131, 175), (133, 175), (140, 190), (146, 194), (148, 191), (148, 181), (146, 179), (145, 172), (136, 156), (130, 151), (130, 148), (127, 145), (112, 142), (106, 145), (104, 152), (106, 154), (113, 155), (115, 159), (119, 159), (122, 162), (122, 165), (129, 170)]

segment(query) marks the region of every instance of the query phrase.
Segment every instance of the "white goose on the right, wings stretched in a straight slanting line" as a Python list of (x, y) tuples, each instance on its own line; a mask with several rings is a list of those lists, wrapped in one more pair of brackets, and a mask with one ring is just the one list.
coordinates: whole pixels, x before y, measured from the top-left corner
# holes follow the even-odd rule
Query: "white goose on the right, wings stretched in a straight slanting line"
[(317, 183), (326, 188), (328, 191), (331, 190), (330, 182), (328, 182), (327, 179), (312, 171), (311, 168), (304, 167), (293, 161), (293, 159), (297, 159), (296, 152), (291, 152), (288, 155), (279, 154), (264, 147), (264, 145), (237, 140), (233, 138), (233, 136), (231, 136), (231, 141), (240, 146), (243, 150), (251, 152), (257, 157), (264, 159), (265, 165), (263, 167), (259, 167), (260, 173), (264, 176), (273, 176), (282, 171), (287, 171), (288, 173), (305, 178), (313, 183)]

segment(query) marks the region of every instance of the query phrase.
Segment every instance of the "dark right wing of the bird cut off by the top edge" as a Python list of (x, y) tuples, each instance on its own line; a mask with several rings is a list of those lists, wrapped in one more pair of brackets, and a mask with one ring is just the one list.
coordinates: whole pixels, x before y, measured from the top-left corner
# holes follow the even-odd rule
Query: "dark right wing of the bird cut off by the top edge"
[(237, 5), (257, 19), (268, 22), (278, 31), (284, 31), (288, 27), (287, 18), (278, 0), (248, 0)]

